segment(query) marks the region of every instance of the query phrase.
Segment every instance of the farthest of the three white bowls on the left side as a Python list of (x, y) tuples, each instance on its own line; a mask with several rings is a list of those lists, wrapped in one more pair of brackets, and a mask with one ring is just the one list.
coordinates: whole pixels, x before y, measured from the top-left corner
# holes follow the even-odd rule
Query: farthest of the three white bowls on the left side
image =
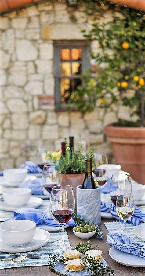
[(27, 169), (6, 169), (3, 174), (7, 182), (23, 182), (27, 176)]

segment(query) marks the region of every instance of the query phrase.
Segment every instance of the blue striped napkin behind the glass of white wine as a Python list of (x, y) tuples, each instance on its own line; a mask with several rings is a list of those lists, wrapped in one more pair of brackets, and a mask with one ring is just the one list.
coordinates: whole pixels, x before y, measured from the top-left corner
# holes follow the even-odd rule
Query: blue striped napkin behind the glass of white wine
[[(119, 217), (116, 213), (116, 207), (113, 203), (103, 203), (101, 202), (101, 211), (111, 213), (111, 215), (116, 219), (119, 220)], [(133, 216), (126, 221), (127, 223), (133, 223), (134, 225), (139, 225), (140, 222), (145, 222), (145, 213), (139, 210), (137, 206), (135, 206)]]

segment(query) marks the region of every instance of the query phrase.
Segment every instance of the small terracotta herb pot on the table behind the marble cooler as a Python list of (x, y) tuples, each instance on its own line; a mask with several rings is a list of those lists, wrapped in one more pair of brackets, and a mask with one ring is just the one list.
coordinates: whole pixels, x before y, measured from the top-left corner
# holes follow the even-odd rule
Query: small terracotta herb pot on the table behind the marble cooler
[(85, 173), (62, 174), (62, 184), (72, 186), (74, 197), (75, 197), (75, 205), (76, 205), (76, 188), (78, 185), (81, 185), (83, 183), (84, 177), (85, 177)]

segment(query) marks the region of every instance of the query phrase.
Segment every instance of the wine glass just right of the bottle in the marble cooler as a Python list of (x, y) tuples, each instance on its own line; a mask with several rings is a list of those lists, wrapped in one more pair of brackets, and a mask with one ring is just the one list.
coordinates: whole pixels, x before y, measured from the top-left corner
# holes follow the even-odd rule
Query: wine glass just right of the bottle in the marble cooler
[(108, 171), (105, 168), (96, 168), (94, 169), (94, 181), (96, 185), (99, 185), (100, 188), (103, 188), (107, 184), (108, 180)]

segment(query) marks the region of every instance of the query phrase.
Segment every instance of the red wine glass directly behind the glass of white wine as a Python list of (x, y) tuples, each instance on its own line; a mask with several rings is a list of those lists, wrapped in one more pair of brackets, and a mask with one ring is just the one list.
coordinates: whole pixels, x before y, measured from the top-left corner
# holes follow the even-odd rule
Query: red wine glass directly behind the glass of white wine
[[(132, 185), (131, 185), (130, 174), (114, 173), (111, 177), (109, 192), (110, 192), (111, 201), (114, 203), (114, 205), (116, 204), (118, 194), (121, 194), (122, 192), (127, 192), (131, 194)], [(122, 231), (121, 219), (119, 220), (118, 231)]]

